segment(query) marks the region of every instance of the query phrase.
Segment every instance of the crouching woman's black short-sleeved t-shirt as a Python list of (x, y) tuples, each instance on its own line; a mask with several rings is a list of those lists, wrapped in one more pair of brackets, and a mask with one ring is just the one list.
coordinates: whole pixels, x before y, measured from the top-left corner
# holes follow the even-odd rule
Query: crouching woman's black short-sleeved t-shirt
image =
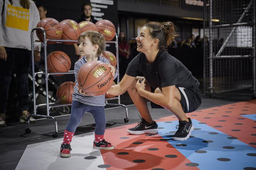
[(154, 89), (173, 85), (184, 88), (200, 86), (191, 72), (165, 50), (159, 50), (154, 62), (150, 64), (145, 54), (139, 53), (129, 63), (126, 74), (132, 77), (144, 76)]

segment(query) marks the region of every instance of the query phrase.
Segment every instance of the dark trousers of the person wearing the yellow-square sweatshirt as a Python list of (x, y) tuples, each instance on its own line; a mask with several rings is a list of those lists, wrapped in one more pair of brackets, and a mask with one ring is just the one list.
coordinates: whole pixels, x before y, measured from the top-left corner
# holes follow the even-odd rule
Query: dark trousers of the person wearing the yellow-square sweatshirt
[[(0, 59), (0, 113), (6, 113), (9, 86), (12, 74), (16, 74), (18, 100), (21, 110), (28, 110), (28, 75), (31, 65), (31, 51), (5, 47), (7, 60)], [(14, 73), (13, 73), (14, 71)]]

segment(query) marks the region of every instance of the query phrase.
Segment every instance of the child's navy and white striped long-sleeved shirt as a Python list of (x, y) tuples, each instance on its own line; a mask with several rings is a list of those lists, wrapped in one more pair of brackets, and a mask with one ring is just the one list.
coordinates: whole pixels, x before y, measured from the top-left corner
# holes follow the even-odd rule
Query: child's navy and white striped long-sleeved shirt
[[(98, 57), (98, 61), (101, 61), (102, 63), (108, 63), (108, 60), (104, 57)], [(82, 57), (80, 60), (78, 60), (75, 63), (75, 68), (74, 68), (74, 72), (75, 72), (75, 80), (76, 80), (76, 86), (74, 87), (74, 93), (72, 95), (72, 100), (84, 103), (84, 104), (88, 104), (88, 105), (93, 105), (93, 106), (105, 106), (105, 94), (101, 95), (101, 96), (85, 96), (82, 95), (81, 93), (78, 92), (78, 80), (77, 80), (77, 76), (78, 76), (78, 72), (80, 70), (80, 68), (87, 63), (86, 57)], [(117, 71), (114, 75), (114, 79), (117, 77)]]

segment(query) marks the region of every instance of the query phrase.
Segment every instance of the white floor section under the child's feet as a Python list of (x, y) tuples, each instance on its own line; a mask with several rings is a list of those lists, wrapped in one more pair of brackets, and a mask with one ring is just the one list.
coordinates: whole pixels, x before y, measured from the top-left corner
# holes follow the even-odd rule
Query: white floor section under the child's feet
[[(62, 138), (30, 144), (24, 151), (16, 170), (104, 170), (101, 152), (93, 149), (94, 132), (72, 138), (70, 158), (61, 158), (59, 150)], [(96, 159), (84, 159), (96, 156)]]

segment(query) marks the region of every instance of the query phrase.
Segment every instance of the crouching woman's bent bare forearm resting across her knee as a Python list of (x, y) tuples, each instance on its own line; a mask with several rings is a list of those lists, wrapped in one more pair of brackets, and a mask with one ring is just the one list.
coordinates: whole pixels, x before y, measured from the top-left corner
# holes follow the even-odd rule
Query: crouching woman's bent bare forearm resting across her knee
[(136, 83), (136, 89), (140, 96), (145, 97), (155, 104), (172, 107), (175, 96), (175, 86), (163, 87), (162, 93), (151, 93), (145, 90), (144, 82), (145, 80), (139, 83), (138, 80)]

